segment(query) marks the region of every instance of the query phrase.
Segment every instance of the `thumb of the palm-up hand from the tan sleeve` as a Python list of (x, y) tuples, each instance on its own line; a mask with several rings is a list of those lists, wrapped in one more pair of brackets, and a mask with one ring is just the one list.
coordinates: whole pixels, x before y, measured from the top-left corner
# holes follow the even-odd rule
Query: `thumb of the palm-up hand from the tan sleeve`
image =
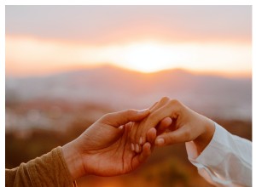
[(149, 110), (134, 110), (129, 109), (125, 111), (117, 111), (109, 113), (102, 117), (102, 122), (107, 123), (113, 127), (119, 127), (125, 125), (128, 122), (137, 122), (143, 120), (144, 117), (148, 116)]

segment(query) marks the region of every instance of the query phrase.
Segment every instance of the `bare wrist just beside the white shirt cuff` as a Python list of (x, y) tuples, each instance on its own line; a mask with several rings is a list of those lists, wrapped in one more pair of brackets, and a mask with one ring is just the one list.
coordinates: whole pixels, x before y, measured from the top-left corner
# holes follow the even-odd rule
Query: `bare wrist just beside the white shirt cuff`
[(215, 132), (215, 125), (214, 122), (212, 122), (211, 119), (203, 116), (203, 120), (201, 125), (203, 126), (203, 131), (202, 133), (193, 140), (198, 155), (201, 154), (203, 150), (207, 147), (207, 145), (211, 142), (213, 134)]

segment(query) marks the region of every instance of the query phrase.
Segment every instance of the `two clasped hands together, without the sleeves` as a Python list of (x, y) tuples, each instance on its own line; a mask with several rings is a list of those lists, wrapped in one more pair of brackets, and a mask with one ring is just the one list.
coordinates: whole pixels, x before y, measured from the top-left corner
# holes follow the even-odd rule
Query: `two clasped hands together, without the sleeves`
[(147, 110), (102, 116), (77, 139), (62, 147), (73, 179), (84, 175), (115, 176), (139, 167), (154, 146), (193, 141), (202, 150), (214, 124), (176, 99), (162, 98)]

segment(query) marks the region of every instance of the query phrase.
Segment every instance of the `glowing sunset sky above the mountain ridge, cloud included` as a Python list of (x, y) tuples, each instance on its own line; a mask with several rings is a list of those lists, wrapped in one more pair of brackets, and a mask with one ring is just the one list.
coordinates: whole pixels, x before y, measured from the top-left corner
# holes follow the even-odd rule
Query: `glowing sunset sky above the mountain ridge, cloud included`
[(6, 6), (6, 75), (95, 65), (251, 76), (252, 6)]

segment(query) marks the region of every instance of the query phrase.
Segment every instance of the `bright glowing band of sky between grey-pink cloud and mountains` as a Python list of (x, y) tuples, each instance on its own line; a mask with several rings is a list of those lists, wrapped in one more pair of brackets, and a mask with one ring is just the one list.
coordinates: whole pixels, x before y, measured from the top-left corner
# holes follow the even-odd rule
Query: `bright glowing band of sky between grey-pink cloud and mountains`
[(252, 68), (251, 47), (229, 43), (139, 41), (90, 46), (7, 36), (5, 56), (6, 72), (14, 75), (106, 63), (146, 73), (172, 68), (245, 73), (251, 72)]

